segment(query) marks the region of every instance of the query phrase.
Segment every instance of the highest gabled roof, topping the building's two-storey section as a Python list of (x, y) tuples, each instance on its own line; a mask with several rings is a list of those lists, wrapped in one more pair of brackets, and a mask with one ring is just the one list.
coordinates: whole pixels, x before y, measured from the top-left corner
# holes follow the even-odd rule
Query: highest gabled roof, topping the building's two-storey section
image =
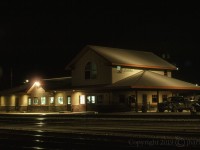
[(93, 50), (98, 55), (105, 58), (112, 65), (130, 66), (137, 68), (168, 69), (176, 70), (176, 66), (170, 64), (164, 59), (158, 57), (152, 52), (136, 51), (129, 49), (111, 48), (103, 46), (87, 45), (78, 55), (69, 63), (66, 69), (70, 68), (87, 50)]

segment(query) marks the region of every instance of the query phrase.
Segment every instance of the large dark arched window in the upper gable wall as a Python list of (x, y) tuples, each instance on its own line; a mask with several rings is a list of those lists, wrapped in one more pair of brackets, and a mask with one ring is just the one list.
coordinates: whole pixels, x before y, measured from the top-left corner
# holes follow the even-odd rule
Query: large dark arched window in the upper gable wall
[(85, 79), (97, 78), (97, 66), (95, 63), (88, 62), (85, 66)]

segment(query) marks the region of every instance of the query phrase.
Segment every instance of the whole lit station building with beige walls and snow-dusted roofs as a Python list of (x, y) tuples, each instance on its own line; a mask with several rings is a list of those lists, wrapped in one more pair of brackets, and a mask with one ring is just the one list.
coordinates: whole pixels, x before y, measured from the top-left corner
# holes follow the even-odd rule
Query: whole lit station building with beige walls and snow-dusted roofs
[(200, 87), (173, 77), (177, 67), (145, 51), (87, 45), (66, 65), (71, 75), (38, 79), (0, 91), (0, 111), (156, 111), (173, 95)]

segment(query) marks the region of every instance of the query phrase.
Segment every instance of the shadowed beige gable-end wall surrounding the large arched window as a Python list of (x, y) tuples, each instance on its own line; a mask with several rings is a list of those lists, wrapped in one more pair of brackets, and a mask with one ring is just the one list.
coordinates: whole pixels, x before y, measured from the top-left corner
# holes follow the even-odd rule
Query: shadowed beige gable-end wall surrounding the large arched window
[[(85, 65), (89, 62), (97, 65), (97, 79), (85, 80)], [(87, 51), (75, 64), (72, 70), (72, 85), (96, 85), (111, 83), (111, 67), (107, 61), (93, 51)]]

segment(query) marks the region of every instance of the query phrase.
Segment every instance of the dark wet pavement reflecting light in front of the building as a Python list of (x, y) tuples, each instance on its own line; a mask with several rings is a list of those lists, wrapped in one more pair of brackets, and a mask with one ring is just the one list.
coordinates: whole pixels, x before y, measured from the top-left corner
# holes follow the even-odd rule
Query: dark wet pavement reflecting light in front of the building
[(151, 148), (200, 148), (200, 116), (189, 112), (0, 114), (0, 149)]

